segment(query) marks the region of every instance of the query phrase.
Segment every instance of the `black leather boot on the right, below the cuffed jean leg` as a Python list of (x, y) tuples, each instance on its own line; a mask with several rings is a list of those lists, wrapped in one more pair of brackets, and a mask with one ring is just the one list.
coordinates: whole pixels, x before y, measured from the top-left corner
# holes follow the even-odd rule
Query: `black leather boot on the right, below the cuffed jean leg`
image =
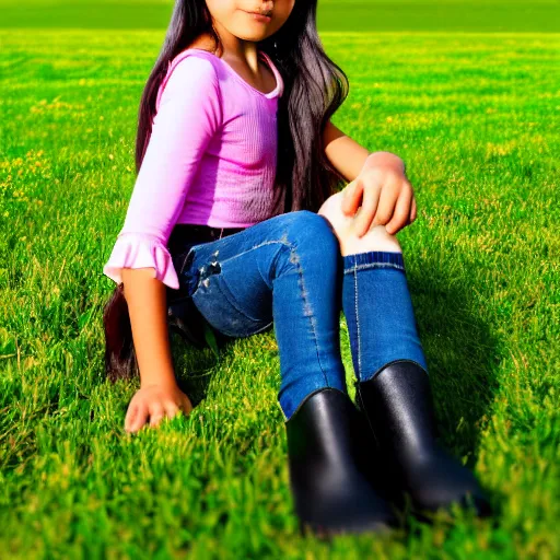
[(357, 398), (386, 459), (394, 487), (415, 511), (434, 512), (453, 502), (489, 515), (490, 504), (472, 472), (438, 443), (432, 390), (425, 371), (412, 361), (387, 364), (357, 383)]

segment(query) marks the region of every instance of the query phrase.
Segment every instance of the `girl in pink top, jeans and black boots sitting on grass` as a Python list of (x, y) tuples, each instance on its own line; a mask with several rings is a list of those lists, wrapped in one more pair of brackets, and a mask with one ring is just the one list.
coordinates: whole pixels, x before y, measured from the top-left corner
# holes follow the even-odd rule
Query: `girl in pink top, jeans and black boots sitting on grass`
[[(468, 499), (482, 514), (475, 477), (435, 439), (394, 236), (416, 219), (412, 189), (398, 156), (370, 154), (330, 124), (348, 81), (322, 48), (316, 3), (177, 0), (141, 101), (137, 183), (104, 267), (117, 283), (104, 313), (107, 373), (138, 364), (125, 421), (135, 432), (192, 408), (168, 327), (202, 343), (203, 322), (233, 338), (273, 325), (302, 526), (395, 523), (374, 476), (382, 463), (397, 503)], [(366, 421), (347, 394), (341, 310)]]

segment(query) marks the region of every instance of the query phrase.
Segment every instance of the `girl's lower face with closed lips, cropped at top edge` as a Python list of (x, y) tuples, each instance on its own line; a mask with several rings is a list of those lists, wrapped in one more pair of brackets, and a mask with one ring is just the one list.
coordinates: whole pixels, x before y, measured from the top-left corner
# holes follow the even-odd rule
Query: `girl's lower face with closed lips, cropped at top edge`
[[(258, 43), (285, 23), (295, 0), (206, 0), (206, 3), (221, 27), (240, 39)], [(252, 12), (270, 18), (259, 21)]]

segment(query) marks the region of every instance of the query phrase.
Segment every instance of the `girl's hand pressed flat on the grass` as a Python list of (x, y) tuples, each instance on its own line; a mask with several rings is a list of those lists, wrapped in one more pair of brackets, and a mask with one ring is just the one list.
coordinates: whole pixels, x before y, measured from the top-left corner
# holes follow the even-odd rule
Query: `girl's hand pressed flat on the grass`
[(173, 418), (179, 410), (189, 415), (192, 405), (176, 383), (147, 385), (136, 393), (128, 405), (125, 430), (136, 432), (148, 423), (148, 419), (151, 427), (159, 425), (163, 418)]

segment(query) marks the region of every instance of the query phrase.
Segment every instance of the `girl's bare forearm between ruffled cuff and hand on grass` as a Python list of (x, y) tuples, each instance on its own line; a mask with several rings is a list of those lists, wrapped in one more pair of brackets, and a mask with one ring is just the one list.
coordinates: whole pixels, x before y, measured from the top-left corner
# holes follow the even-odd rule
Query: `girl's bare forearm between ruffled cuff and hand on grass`
[(175, 384), (165, 284), (154, 278), (153, 268), (124, 268), (122, 283), (141, 385)]

